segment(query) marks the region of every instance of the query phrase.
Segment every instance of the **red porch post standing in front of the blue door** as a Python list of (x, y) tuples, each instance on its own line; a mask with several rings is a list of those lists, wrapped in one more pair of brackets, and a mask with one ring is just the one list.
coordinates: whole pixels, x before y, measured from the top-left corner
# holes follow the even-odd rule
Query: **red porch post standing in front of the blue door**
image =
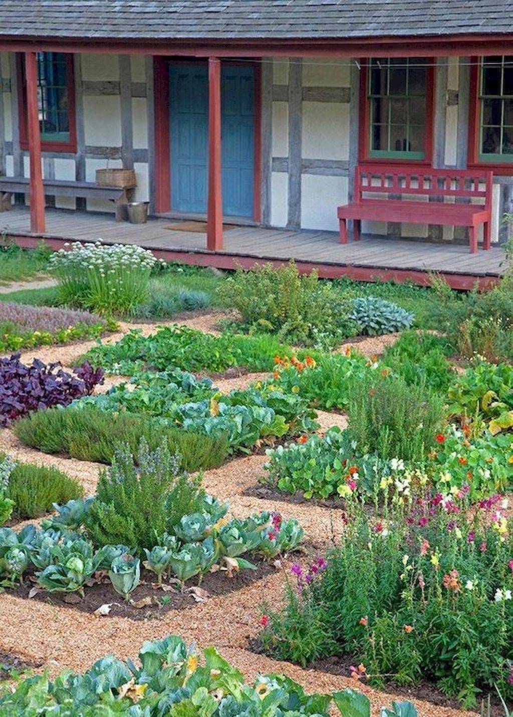
[(223, 197), (221, 191), (221, 62), (208, 57), (208, 214), (206, 247), (223, 248)]

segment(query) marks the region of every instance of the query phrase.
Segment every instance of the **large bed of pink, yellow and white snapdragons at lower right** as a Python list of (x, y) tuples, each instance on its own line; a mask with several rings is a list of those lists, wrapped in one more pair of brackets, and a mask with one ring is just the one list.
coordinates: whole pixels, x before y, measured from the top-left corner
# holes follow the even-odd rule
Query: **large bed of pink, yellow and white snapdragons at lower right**
[(302, 664), (351, 655), (383, 687), (431, 680), (474, 706), (513, 696), (513, 522), (502, 498), (404, 498), (388, 518), (346, 516), (340, 547), (293, 566), (282, 610), (264, 605), (264, 647)]

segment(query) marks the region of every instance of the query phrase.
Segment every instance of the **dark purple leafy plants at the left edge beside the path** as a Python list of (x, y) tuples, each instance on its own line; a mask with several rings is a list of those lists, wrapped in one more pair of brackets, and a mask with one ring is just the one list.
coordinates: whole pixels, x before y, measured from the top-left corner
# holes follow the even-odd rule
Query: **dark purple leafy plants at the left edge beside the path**
[(43, 364), (34, 359), (30, 366), (22, 364), (19, 353), (0, 359), (0, 425), (31, 411), (51, 406), (67, 406), (87, 396), (97, 384), (103, 383), (103, 370), (92, 369), (85, 362), (73, 374), (60, 364)]

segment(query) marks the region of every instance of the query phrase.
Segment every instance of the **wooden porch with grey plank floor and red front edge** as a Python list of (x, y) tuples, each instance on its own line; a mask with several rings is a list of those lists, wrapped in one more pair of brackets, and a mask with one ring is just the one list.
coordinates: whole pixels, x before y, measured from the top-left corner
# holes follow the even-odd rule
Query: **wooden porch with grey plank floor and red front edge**
[(224, 249), (206, 248), (206, 232), (184, 232), (170, 227), (173, 219), (150, 219), (147, 224), (115, 222), (108, 214), (46, 210), (46, 232), (30, 231), (29, 209), (14, 206), (0, 217), (0, 229), (23, 246), (33, 246), (44, 238), (58, 249), (64, 242), (139, 244), (167, 261), (220, 269), (237, 263), (246, 267), (255, 261), (279, 264), (294, 259), (300, 270), (317, 268), (326, 278), (343, 275), (356, 280), (393, 280), (427, 285), (429, 273), (444, 275), (453, 288), (470, 289), (478, 282), (482, 288), (497, 282), (504, 271), (505, 252), (497, 245), (469, 253), (468, 244), (433, 244), (419, 240), (396, 239), (363, 234), (362, 241), (340, 244), (336, 232), (294, 229), (234, 227), (224, 231)]

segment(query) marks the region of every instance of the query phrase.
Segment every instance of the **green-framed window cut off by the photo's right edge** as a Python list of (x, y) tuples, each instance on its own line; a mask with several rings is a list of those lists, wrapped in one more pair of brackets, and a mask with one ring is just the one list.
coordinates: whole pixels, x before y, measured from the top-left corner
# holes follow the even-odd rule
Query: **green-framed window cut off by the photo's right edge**
[(479, 159), (513, 162), (513, 55), (483, 57)]

